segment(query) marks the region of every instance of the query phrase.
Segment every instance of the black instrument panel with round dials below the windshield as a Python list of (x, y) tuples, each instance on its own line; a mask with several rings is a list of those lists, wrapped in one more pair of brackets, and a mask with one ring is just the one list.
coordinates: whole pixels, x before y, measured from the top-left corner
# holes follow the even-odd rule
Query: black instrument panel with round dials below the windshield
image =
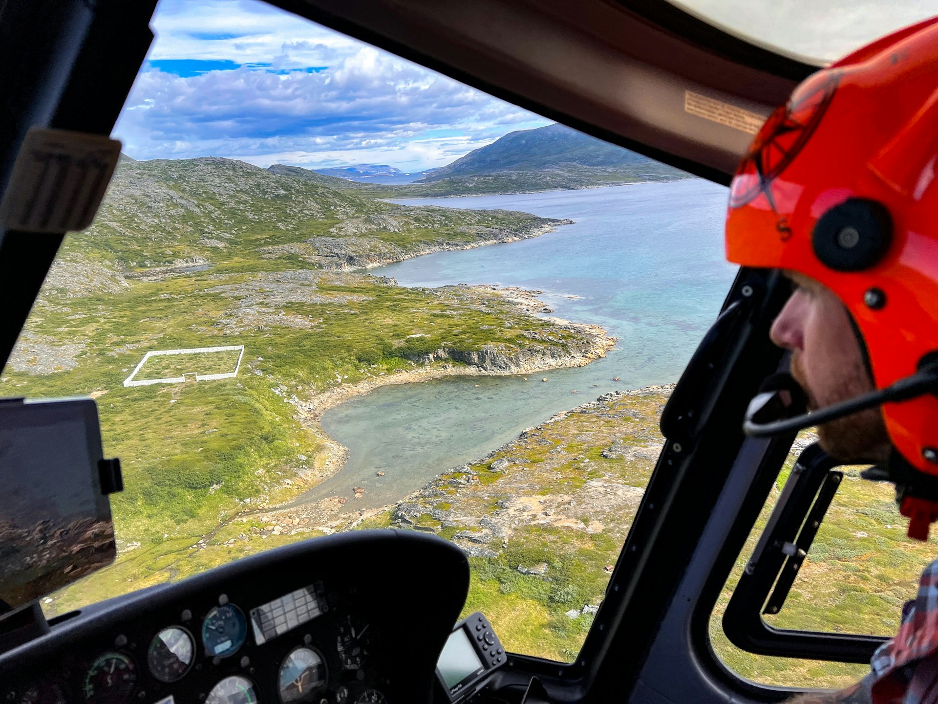
[[(427, 536), (370, 532), (278, 548), (96, 605), (0, 656), (0, 696), (5, 704), (430, 701), (435, 656), (468, 586), (465, 558)], [(404, 559), (379, 547), (392, 533)], [(455, 569), (443, 580), (450, 584), (423, 574), (433, 559), (404, 557), (426, 550)], [(272, 560), (280, 569), (265, 568)], [(415, 583), (376, 578), (401, 570)], [(418, 612), (420, 642), (401, 649), (401, 615)]]

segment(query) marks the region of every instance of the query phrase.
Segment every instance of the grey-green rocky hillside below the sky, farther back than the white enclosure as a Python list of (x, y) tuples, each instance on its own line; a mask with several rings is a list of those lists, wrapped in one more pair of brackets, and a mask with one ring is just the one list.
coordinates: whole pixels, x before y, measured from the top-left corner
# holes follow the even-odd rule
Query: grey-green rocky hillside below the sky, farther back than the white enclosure
[(303, 177), (293, 177), (213, 157), (122, 161), (95, 223), (68, 238), (63, 259), (84, 257), (137, 277), (258, 257), (349, 269), (534, 237), (561, 223), (527, 213), (395, 206), (363, 197), (351, 181), (300, 171)]

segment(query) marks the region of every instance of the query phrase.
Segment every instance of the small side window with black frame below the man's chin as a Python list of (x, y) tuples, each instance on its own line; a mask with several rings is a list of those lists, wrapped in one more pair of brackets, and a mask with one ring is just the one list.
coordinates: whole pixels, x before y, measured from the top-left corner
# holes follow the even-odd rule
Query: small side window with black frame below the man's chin
[[(807, 512), (798, 513), (796, 531), (802, 532), (821, 517), (806, 555), (779, 560), (779, 570), (769, 575), (764, 589), (752, 593), (733, 614), (734, 629), (751, 632), (759, 640), (759, 654), (738, 647), (727, 635), (724, 615), (739, 589), (744, 589), (748, 566), (758, 573), (763, 561), (757, 543), (764, 537), (769, 516), (777, 509), (794, 460), (811, 439), (803, 434), (779, 474), (746, 547), (739, 556), (710, 621), (710, 638), (721, 662), (736, 674), (764, 684), (840, 688), (869, 672), (865, 662), (878, 642), (870, 636), (891, 637), (899, 628), (902, 605), (915, 598), (918, 577), (934, 558), (933, 541), (919, 543), (906, 537), (906, 519), (900, 516), (895, 491), (887, 482), (870, 482), (859, 476), (864, 467), (836, 467), (824, 482), (809, 491), (815, 496)], [(829, 481), (830, 480), (830, 481)], [(820, 485), (820, 488), (817, 488)], [(832, 497), (825, 503), (825, 487)], [(819, 502), (820, 501), (820, 505)], [(810, 502), (809, 502), (810, 503)], [(801, 523), (803, 521), (803, 523)], [(778, 529), (778, 528), (777, 528)], [(794, 553), (794, 549), (789, 550)], [(794, 579), (785, 580), (797, 562)], [(778, 576), (775, 576), (778, 574)], [(790, 575), (791, 576), (791, 575)], [(780, 589), (779, 589), (780, 587)], [(753, 624), (740, 626), (739, 621)], [(764, 623), (767, 629), (759, 626)], [(792, 644), (789, 636), (803, 637)], [(824, 640), (813, 635), (828, 635)], [(841, 636), (831, 643), (829, 635)], [(745, 637), (746, 634), (743, 634)], [(857, 636), (857, 637), (851, 637)], [(826, 652), (825, 660), (780, 657), (769, 651)]]

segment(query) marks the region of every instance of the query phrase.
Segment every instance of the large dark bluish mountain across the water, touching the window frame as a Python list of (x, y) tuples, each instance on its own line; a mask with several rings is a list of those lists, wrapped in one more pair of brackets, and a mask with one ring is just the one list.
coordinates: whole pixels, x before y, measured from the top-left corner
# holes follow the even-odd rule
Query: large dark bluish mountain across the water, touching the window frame
[(430, 183), (453, 176), (574, 166), (615, 170), (655, 163), (641, 154), (555, 123), (537, 130), (509, 132), (491, 145), (475, 149), (420, 180)]

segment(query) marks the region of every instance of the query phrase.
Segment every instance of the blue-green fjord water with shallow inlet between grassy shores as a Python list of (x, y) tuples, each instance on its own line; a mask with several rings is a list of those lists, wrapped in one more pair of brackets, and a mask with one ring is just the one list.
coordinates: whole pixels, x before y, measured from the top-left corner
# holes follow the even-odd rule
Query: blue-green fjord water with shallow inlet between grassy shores
[(351, 497), (360, 486), (364, 496), (346, 503), (347, 510), (382, 506), (558, 411), (607, 391), (675, 381), (734, 277), (723, 259), (726, 190), (708, 181), (402, 202), (576, 221), (541, 237), (428, 254), (371, 273), (404, 286), (541, 290), (538, 298), (553, 316), (601, 325), (618, 344), (604, 360), (526, 381), (522, 375), (450, 377), (382, 387), (333, 408), (323, 426), (349, 449), (348, 463), (300, 501)]

